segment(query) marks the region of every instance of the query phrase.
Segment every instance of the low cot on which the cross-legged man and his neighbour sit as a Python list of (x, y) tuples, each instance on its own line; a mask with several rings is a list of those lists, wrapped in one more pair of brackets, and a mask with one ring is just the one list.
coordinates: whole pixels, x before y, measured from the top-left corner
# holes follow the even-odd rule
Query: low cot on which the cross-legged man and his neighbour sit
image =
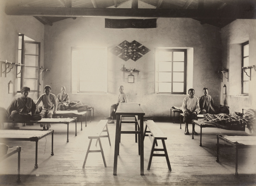
[[(76, 121), (77, 118), (42, 118), (39, 121), (31, 121), (33, 123), (50, 123), (50, 124), (54, 124), (54, 123), (62, 123), (62, 124), (67, 124), (67, 142), (69, 142), (68, 140), (68, 132), (69, 132), (69, 124), (73, 121)], [(75, 134), (77, 136), (77, 133)]]

